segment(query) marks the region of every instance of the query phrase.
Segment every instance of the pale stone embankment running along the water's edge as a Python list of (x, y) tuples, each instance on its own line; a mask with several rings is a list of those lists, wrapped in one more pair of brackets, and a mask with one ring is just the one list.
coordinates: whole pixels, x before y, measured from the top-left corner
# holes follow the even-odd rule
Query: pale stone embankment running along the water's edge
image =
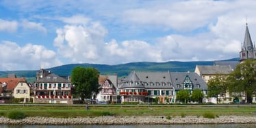
[(27, 117), (22, 120), (11, 120), (0, 117), (0, 124), (6, 125), (172, 125), (172, 124), (241, 124), (256, 123), (255, 116), (220, 116), (219, 118), (203, 118), (186, 116), (166, 119), (165, 116), (100, 116), (77, 118), (45, 118)]

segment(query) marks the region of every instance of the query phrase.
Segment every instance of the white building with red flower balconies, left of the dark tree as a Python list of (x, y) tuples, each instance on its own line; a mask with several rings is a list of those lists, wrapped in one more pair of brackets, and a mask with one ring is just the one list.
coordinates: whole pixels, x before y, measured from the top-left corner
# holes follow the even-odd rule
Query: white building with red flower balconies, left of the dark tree
[(35, 103), (73, 104), (71, 80), (40, 69), (34, 82)]

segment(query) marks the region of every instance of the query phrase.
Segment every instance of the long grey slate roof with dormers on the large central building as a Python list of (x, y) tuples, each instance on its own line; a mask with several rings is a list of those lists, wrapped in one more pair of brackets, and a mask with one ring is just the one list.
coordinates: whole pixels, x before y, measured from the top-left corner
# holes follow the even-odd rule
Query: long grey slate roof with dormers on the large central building
[[(207, 89), (207, 85), (203, 79), (196, 73), (170, 73), (166, 72), (131, 72), (129, 76), (123, 81), (120, 88), (145, 88), (145, 89), (171, 89), (183, 90), (183, 81), (186, 76), (189, 76), (194, 89)], [(132, 82), (132, 84), (129, 84)], [(136, 82), (138, 82), (136, 84)], [(180, 86), (177, 86), (179, 84)], [(199, 84), (200, 88), (196, 88)]]

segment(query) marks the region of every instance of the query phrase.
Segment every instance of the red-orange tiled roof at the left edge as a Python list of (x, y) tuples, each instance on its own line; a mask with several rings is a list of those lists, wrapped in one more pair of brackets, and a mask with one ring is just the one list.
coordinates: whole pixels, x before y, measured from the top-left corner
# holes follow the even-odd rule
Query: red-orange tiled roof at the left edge
[(13, 90), (18, 82), (25, 82), (26, 79), (24, 77), (22, 78), (0, 78), (0, 82), (3, 84), (4, 82), (7, 84), (6, 89), (7, 90)]

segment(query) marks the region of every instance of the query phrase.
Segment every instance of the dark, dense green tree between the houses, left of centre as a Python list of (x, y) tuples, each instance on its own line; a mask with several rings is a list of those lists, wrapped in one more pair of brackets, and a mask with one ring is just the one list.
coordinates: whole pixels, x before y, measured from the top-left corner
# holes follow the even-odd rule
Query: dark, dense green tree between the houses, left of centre
[(75, 94), (84, 101), (90, 99), (92, 94), (98, 94), (101, 90), (99, 85), (99, 71), (95, 68), (81, 66), (73, 68), (71, 82), (75, 85)]

